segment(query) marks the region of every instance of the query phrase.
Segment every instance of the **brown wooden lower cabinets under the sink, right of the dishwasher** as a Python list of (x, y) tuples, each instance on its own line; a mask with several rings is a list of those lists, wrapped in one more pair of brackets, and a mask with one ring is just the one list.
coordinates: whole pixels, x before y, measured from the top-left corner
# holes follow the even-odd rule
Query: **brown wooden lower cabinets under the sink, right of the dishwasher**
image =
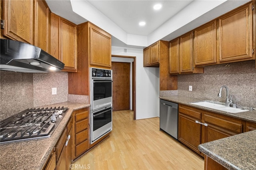
[[(256, 124), (247, 123), (247, 129)], [(198, 145), (245, 132), (245, 121), (202, 109), (179, 105), (178, 140), (197, 154)]]

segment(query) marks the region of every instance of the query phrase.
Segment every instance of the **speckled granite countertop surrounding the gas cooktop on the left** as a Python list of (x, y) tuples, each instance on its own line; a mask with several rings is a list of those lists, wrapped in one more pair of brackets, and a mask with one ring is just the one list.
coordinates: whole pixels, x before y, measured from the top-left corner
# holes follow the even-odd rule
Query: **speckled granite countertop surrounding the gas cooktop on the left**
[[(60, 135), (72, 112), (89, 107), (82, 103), (56, 103), (42, 107), (68, 107), (66, 115), (49, 138), (32, 139), (0, 144), (0, 169), (5, 170), (42, 170), (52, 149), (58, 142)], [(41, 107), (40, 107), (41, 108)]]

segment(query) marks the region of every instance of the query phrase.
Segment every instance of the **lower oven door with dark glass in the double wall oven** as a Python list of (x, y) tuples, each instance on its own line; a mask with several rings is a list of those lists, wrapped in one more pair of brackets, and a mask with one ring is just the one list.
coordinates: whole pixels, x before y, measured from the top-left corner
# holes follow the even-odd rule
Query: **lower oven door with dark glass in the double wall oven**
[(112, 130), (112, 107), (92, 112), (92, 142)]

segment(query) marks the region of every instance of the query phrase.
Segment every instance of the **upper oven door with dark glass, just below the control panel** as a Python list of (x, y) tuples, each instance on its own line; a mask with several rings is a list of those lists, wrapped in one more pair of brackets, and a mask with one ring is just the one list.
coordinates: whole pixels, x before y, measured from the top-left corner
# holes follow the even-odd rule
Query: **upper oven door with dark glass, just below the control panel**
[(92, 110), (112, 103), (112, 80), (92, 80)]

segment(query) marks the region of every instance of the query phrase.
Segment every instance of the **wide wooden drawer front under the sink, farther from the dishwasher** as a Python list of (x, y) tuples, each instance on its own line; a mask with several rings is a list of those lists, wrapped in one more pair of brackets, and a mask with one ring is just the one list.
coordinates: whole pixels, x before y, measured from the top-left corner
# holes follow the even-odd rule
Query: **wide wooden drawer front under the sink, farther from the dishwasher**
[(204, 114), (204, 123), (209, 123), (212, 125), (216, 125), (218, 127), (225, 128), (227, 130), (230, 130), (232, 132), (242, 133), (242, 123), (238, 123), (235, 121), (228, 121), (222, 118), (218, 118), (212, 115), (206, 115)]

